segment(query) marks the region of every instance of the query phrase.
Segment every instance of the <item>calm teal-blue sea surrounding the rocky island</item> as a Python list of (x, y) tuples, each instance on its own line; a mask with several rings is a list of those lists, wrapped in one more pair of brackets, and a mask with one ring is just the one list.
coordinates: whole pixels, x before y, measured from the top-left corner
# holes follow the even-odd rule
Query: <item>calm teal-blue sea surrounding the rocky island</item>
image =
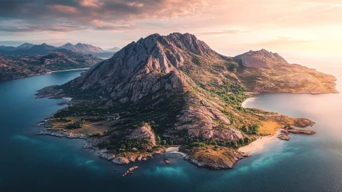
[[(324, 68), (342, 79), (341, 67)], [(273, 140), (234, 169), (199, 169), (167, 154), (128, 166), (100, 160), (84, 141), (37, 136), (38, 121), (64, 106), (35, 99), (40, 88), (64, 84), (81, 71), (63, 71), (0, 82), (0, 191), (342, 191), (342, 95), (264, 94), (246, 106), (306, 117), (313, 136)], [(342, 91), (339, 85), (339, 91)], [(131, 165), (130, 165), (131, 166)]]

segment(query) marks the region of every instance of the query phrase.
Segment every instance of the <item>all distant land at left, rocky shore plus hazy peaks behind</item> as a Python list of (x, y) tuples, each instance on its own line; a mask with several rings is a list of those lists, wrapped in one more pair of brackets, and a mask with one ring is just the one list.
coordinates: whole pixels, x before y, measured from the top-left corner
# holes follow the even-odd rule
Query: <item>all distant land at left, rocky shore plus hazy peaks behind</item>
[[(99, 51), (101, 48), (81, 44), (75, 47), (78, 49), (69, 50), (46, 43), (42, 45), (24, 43), (18, 47), (1, 46), (0, 81), (31, 77), (51, 71), (88, 68), (101, 61), (95, 54), (85, 51)], [(110, 56), (113, 54), (110, 53)]]

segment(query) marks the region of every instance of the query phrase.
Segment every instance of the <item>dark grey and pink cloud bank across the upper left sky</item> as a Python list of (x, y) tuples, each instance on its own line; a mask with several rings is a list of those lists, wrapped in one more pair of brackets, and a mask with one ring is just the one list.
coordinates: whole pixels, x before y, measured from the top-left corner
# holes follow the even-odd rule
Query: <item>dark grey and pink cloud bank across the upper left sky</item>
[[(200, 12), (206, 1), (209, 0), (5, 0), (0, 6), (0, 20), (9, 21), (8, 26), (2, 27), (6, 32), (16, 32), (10, 22), (14, 20), (36, 26), (24, 27), (17, 32), (27, 32), (30, 28), (36, 28), (35, 31), (55, 30), (49, 26), (56, 28), (53, 26), (59, 25), (60, 21), (64, 25), (77, 26), (74, 30), (86, 27), (132, 29), (137, 21), (193, 16)], [(124, 27), (122, 23), (125, 23)]]

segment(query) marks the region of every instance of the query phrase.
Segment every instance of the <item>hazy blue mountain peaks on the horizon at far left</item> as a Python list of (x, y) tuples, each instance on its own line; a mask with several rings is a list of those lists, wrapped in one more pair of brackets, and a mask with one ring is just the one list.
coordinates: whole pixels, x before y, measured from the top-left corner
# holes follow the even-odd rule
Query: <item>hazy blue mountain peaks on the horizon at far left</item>
[(114, 47), (112, 49), (108, 49), (108, 51), (104, 51), (100, 47), (96, 47), (93, 45), (88, 45), (84, 43), (77, 43), (73, 45), (71, 43), (66, 43), (61, 47), (54, 47), (52, 45), (47, 45), (43, 43), (42, 45), (33, 45), (31, 43), (24, 43), (18, 47), (12, 46), (0, 46), (0, 56), (28, 56), (28, 55), (45, 55), (50, 51), (60, 51), (64, 52), (64, 50), (71, 50), (77, 53), (83, 54), (93, 54), (99, 58), (110, 58), (120, 50), (119, 47)]

